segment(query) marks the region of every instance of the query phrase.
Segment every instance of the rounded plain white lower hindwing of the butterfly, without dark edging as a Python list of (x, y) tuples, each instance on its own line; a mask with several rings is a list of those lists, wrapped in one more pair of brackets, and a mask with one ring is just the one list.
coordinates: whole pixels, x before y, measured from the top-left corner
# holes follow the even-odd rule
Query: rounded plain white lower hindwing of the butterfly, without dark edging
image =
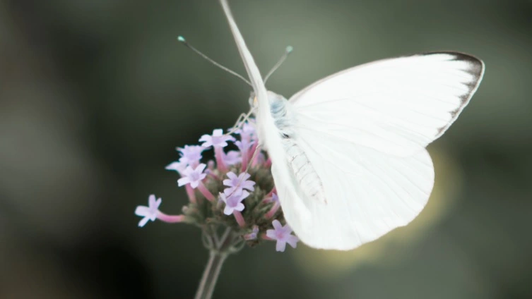
[(293, 181), (276, 187), (286, 221), (314, 248), (349, 250), (404, 226), (432, 191), (434, 170), (425, 149), (396, 157), (312, 130), (296, 142), (321, 178), (327, 203), (305, 198), (302, 190), (294, 195)]

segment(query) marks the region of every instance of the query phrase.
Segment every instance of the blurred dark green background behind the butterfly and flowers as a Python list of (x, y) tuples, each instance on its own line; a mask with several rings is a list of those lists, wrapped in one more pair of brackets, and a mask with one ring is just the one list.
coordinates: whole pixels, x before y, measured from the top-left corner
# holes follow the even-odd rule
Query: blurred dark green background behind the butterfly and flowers
[[(285, 97), (360, 63), (455, 50), (486, 64), (430, 145), (436, 188), (406, 228), (352, 252), (245, 248), (215, 298), (532, 298), (532, 1), (230, 1)], [(0, 2), (0, 298), (193, 298), (199, 230), (136, 205), (186, 202), (176, 146), (247, 111), (218, 1)]]

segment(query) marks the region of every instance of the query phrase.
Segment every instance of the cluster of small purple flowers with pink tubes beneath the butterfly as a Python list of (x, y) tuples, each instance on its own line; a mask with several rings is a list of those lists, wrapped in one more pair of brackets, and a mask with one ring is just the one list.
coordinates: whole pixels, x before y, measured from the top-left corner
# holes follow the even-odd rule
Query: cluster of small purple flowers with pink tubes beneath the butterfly
[[(195, 224), (203, 232), (208, 226), (223, 226), (250, 246), (276, 240), (277, 251), (284, 251), (286, 243), (295, 248), (298, 238), (288, 224), (281, 224), (285, 221), (271, 177), (271, 161), (262, 152), (254, 154), (259, 147), (253, 119), (233, 131), (231, 135), (216, 129), (212, 135), (201, 136), (201, 145), (178, 147), (179, 160), (166, 169), (179, 174), (177, 185), (187, 191), (188, 205), (181, 215), (167, 215), (159, 211), (162, 200), (150, 195), (148, 207), (136, 208), (135, 214), (143, 217), (138, 226), (155, 219)], [(233, 150), (226, 152), (227, 147)], [(203, 152), (211, 148), (214, 160), (202, 163)]]

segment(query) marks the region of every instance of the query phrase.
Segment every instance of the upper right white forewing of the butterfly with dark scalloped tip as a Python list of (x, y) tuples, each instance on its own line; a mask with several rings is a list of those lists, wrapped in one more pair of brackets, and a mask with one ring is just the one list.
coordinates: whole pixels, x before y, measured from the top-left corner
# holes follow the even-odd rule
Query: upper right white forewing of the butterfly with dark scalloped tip
[(295, 94), (301, 127), (408, 156), (444, 133), (480, 84), (482, 61), (453, 52), (349, 68)]

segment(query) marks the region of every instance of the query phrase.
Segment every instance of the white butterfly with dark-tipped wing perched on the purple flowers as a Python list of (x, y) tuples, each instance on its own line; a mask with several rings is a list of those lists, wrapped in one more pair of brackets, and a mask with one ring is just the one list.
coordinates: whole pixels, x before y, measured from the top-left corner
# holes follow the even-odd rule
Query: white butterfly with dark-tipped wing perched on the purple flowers
[(314, 248), (349, 250), (404, 226), (434, 185), (425, 147), (477, 90), (484, 63), (454, 52), (348, 68), (294, 94), (266, 91), (220, 0), (256, 94), (261, 146), (285, 219)]

